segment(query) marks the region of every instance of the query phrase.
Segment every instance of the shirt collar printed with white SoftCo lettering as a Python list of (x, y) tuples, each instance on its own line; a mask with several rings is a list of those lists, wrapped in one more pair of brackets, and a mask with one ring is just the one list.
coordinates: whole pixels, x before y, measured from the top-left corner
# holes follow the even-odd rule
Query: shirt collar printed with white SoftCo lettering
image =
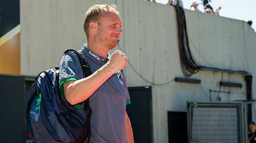
[(97, 61), (97, 62), (106, 62), (106, 61), (109, 61), (109, 58), (110, 58), (110, 55), (108, 53), (108, 56), (107, 56), (107, 59), (99, 56), (98, 54), (92, 52), (87, 46), (86, 44), (83, 45), (81, 51), (87, 56), (89, 57), (91, 60), (94, 60), (94, 61)]

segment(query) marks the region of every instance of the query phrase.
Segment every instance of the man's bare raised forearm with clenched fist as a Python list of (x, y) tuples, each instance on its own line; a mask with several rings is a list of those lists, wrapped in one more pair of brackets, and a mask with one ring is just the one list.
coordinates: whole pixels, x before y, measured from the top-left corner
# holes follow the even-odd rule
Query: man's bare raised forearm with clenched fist
[(63, 83), (64, 94), (67, 101), (75, 105), (89, 98), (104, 82), (117, 71), (127, 65), (127, 57), (121, 51), (115, 51), (110, 60), (92, 75), (74, 81)]

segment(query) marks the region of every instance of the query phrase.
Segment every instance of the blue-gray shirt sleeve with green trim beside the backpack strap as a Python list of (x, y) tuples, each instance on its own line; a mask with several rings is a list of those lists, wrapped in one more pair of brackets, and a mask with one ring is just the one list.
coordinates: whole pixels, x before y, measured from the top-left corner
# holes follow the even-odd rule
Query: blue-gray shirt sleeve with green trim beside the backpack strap
[(60, 63), (60, 92), (64, 95), (63, 83), (83, 78), (81, 64), (75, 52), (68, 52), (63, 55)]

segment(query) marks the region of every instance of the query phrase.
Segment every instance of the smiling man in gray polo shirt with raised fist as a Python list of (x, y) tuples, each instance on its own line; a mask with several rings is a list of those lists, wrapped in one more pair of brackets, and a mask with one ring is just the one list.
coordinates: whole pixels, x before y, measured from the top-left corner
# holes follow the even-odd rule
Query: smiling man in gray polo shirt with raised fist
[(122, 35), (121, 26), (116, 5), (93, 5), (83, 22), (87, 43), (78, 51), (86, 58), (93, 74), (83, 78), (74, 52), (65, 54), (60, 63), (60, 91), (67, 101), (81, 109), (79, 103), (90, 98), (90, 143), (134, 142), (126, 113), (130, 98), (122, 70), (128, 59), (121, 51), (108, 54)]

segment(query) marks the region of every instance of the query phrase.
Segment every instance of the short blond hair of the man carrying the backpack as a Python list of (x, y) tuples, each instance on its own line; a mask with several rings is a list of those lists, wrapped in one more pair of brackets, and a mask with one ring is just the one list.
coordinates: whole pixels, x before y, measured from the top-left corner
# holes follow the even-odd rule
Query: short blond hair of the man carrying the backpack
[(118, 8), (115, 4), (95, 4), (93, 6), (91, 6), (88, 11), (85, 13), (84, 15), (84, 20), (83, 20), (83, 29), (84, 32), (86, 34), (87, 40), (89, 38), (89, 24), (90, 22), (95, 22), (98, 23), (99, 25), (100, 23), (100, 14), (103, 12), (109, 12), (109, 11), (114, 11), (117, 12), (119, 14)]

